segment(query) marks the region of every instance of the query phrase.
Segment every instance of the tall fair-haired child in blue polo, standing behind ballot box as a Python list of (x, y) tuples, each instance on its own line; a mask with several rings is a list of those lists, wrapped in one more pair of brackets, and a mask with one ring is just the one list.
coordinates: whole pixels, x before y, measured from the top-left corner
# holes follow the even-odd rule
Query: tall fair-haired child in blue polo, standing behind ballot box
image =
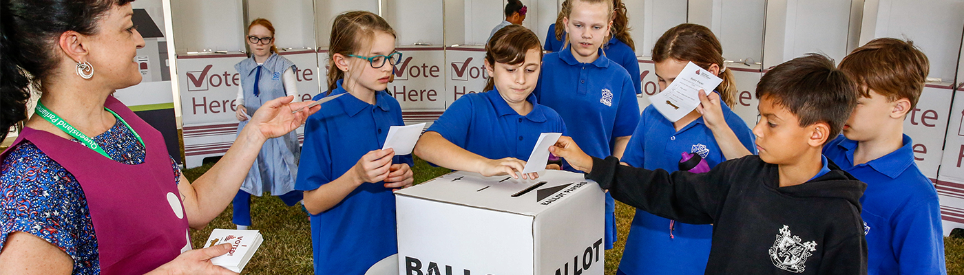
[[(619, 158), (639, 122), (639, 105), (629, 73), (601, 49), (609, 41), (613, 2), (569, 1), (562, 11), (566, 46), (543, 57), (544, 70), (533, 94), (540, 104), (559, 112), (587, 154)], [(615, 201), (608, 194), (605, 201), (605, 248), (609, 249), (616, 240)]]

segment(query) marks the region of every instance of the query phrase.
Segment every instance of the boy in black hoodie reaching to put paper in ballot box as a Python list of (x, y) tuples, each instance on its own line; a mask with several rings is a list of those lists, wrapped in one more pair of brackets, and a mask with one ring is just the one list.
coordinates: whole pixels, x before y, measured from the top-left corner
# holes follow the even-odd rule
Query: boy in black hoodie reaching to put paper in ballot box
[(867, 274), (864, 183), (827, 162), (857, 86), (816, 54), (770, 69), (757, 86), (759, 156), (710, 172), (646, 170), (591, 158), (562, 137), (549, 148), (614, 198), (684, 223), (713, 224), (706, 274)]

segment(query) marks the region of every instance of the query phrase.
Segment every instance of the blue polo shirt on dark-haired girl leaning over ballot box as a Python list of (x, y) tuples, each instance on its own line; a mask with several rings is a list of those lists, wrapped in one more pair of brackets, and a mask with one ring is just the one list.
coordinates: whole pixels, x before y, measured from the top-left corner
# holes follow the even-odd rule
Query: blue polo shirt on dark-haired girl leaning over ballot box
[(532, 111), (521, 115), (509, 107), (498, 90), (469, 93), (456, 100), (428, 128), (455, 145), (491, 160), (528, 160), (542, 133), (563, 133), (566, 124), (549, 107), (529, 94)]

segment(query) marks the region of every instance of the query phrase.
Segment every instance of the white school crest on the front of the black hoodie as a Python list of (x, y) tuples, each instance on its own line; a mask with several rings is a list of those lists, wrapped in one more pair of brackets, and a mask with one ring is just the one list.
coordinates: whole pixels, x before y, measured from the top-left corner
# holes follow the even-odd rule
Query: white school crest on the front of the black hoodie
[(803, 273), (806, 269), (807, 258), (811, 252), (817, 251), (816, 241), (803, 242), (799, 236), (790, 234), (790, 226), (784, 225), (777, 234), (777, 239), (770, 246), (770, 260), (780, 269), (793, 273)]

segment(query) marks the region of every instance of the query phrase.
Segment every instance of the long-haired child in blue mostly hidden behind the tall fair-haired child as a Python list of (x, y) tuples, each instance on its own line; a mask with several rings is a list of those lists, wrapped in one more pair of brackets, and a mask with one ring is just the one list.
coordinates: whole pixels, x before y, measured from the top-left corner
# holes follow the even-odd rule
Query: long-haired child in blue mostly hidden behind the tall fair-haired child
[[(626, 4), (622, 0), (613, 0), (613, 20), (610, 28), (609, 41), (603, 45), (603, 55), (629, 72), (632, 79), (632, 86), (635, 87), (636, 94), (643, 93), (642, 82), (639, 79), (639, 61), (636, 59), (636, 44), (629, 36), (629, 16), (627, 15)], [(569, 1), (562, 3), (563, 10), (567, 9)], [(562, 25), (564, 13), (559, 13), (556, 24)], [(556, 24), (549, 25), (549, 33), (546, 35), (546, 46), (544, 49), (551, 53), (563, 48), (563, 39), (566, 37), (565, 29), (556, 29)]]

